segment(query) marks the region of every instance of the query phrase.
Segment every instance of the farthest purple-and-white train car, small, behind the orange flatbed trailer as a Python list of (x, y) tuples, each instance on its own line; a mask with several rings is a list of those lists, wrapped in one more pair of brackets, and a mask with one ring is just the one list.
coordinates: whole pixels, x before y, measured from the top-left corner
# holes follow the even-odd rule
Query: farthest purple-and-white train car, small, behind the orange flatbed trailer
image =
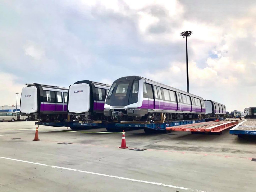
[(217, 103), (212, 100), (204, 100), (205, 102), (205, 114), (207, 118), (211, 117), (225, 117), (226, 116), (226, 106), (220, 103)]

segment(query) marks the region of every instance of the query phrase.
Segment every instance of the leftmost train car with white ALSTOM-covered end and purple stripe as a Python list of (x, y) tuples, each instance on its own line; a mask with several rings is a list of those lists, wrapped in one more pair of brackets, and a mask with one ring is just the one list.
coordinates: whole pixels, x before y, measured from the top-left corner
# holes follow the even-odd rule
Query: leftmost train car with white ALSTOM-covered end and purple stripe
[(67, 119), (68, 88), (27, 83), (20, 97), (20, 113), (35, 115), (40, 122)]

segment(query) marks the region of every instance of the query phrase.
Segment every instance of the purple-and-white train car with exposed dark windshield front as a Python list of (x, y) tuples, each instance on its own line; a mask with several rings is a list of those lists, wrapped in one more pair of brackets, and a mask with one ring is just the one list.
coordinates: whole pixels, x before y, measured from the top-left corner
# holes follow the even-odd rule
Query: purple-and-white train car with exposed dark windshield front
[(205, 114), (204, 99), (182, 90), (138, 77), (113, 82), (105, 101), (105, 116), (124, 121), (198, 118)]

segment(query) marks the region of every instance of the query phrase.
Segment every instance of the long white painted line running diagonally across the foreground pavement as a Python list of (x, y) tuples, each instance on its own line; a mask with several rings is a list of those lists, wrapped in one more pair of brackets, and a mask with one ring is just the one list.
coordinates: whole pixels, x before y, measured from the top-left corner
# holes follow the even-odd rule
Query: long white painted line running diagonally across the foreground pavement
[(83, 170), (78, 170), (78, 169), (71, 169), (71, 168), (67, 168), (67, 167), (59, 167), (59, 166), (54, 166), (54, 165), (34, 163), (34, 162), (30, 162), (30, 161), (23, 161), (23, 160), (12, 159), (12, 158), (7, 158), (7, 157), (0, 157), (0, 158), (13, 160), (13, 161), (20, 161), (20, 162), (24, 162), (24, 163), (32, 163), (32, 164), (42, 165), (42, 166), (49, 166), (49, 167), (53, 167), (53, 168), (66, 169), (66, 170), (70, 170), (70, 171), (88, 173), (88, 174), (93, 174), (93, 175), (100, 175), (100, 176), (105, 176), (105, 177), (112, 177), (112, 178), (117, 178), (117, 179), (124, 179), (124, 180), (130, 180), (130, 181), (135, 181), (135, 182), (148, 183), (148, 184), (153, 184), (153, 185), (160, 185), (160, 186), (171, 187), (171, 188), (176, 188), (176, 189), (184, 189), (184, 190), (188, 190), (188, 191), (209, 192), (209, 191), (202, 191), (202, 190), (198, 190), (198, 189), (191, 189), (191, 188), (186, 188), (186, 187), (178, 187), (178, 186), (174, 186), (174, 185), (167, 185), (167, 184), (163, 184), (163, 183), (156, 183), (156, 182), (150, 182), (150, 181), (144, 181), (144, 180), (130, 179), (130, 178), (126, 178), (126, 177), (119, 177), (119, 176), (114, 176), (114, 175), (106, 175), (106, 174), (102, 174), (102, 173), (94, 173), (94, 172), (83, 171)]

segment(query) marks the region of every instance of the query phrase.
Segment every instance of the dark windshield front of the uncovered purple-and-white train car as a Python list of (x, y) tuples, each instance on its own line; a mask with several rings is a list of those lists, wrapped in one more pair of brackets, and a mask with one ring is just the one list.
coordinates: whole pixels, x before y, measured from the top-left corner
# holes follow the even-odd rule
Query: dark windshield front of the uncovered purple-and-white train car
[(138, 80), (125, 79), (111, 86), (106, 104), (110, 106), (127, 106), (138, 101)]

